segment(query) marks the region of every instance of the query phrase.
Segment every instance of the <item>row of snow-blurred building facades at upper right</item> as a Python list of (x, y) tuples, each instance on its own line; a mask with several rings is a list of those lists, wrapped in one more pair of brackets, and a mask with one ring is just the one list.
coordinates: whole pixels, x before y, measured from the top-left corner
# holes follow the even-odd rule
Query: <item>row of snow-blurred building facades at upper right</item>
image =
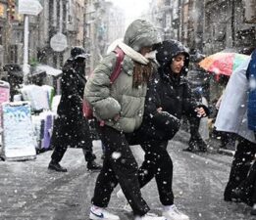
[(205, 54), (240, 52), (256, 45), (255, 6), (256, 0), (159, 0), (149, 14), (164, 39)]

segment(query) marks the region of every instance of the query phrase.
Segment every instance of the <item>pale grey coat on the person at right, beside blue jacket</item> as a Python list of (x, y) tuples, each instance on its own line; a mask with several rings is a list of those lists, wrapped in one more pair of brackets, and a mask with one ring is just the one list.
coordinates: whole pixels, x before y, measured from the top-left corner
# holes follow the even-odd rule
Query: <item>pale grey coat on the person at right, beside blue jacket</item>
[(250, 59), (238, 66), (231, 74), (223, 95), (215, 126), (219, 131), (232, 132), (255, 143), (254, 134), (248, 129), (247, 97), (248, 81), (246, 69)]

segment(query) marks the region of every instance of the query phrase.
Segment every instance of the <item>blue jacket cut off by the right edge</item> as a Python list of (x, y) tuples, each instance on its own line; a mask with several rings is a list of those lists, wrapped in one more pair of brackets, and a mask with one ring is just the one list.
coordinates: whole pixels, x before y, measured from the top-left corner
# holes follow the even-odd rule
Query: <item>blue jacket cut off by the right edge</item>
[(256, 50), (251, 55), (246, 76), (249, 79), (248, 127), (250, 130), (256, 131)]

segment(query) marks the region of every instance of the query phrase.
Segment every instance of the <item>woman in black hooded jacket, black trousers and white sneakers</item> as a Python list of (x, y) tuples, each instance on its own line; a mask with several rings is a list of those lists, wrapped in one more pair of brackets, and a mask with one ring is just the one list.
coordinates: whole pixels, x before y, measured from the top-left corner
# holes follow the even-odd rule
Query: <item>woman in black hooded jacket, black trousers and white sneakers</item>
[(155, 177), (163, 215), (167, 219), (188, 220), (174, 204), (173, 161), (167, 146), (179, 130), (182, 114), (206, 116), (207, 108), (192, 96), (185, 79), (189, 54), (178, 41), (164, 41), (157, 48), (156, 58), (160, 67), (148, 86), (144, 120), (139, 131), (129, 136), (129, 143), (140, 144), (145, 152), (139, 168), (140, 187)]

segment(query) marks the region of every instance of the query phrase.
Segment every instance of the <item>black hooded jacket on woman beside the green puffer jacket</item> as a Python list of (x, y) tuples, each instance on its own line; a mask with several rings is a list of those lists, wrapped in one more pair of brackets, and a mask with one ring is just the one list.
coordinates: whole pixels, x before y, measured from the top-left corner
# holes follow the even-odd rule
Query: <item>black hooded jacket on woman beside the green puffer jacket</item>
[[(180, 53), (185, 56), (184, 66), (180, 74), (172, 74), (170, 65), (173, 58)], [(196, 116), (196, 107), (204, 106), (196, 103), (185, 79), (189, 64), (189, 54), (186, 49), (178, 41), (164, 41), (157, 48), (156, 58), (160, 66), (148, 86), (144, 123), (141, 130), (149, 136), (154, 134), (160, 139), (171, 139), (179, 130), (181, 115)], [(164, 113), (159, 113), (157, 111), (159, 108), (162, 108)], [(207, 110), (206, 107), (204, 109)], [(168, 116), (166, 112), (178, 119)], [(161, 127), (166, 129), (160, 132)], [(155, 132), (152, 132), (152, 129)], [(166, 132), (170, 134), (167, 135)]]

